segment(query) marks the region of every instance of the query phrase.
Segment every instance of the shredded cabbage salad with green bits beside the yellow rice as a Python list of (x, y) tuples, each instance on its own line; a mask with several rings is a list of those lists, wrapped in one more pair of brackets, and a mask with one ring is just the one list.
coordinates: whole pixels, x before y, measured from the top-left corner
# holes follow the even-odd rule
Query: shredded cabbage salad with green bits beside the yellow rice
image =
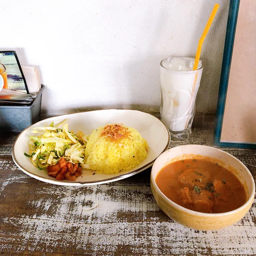
[[(31, 132), (38, 136), (30, 136), (29, 140), (29, 154), (24, 153), (25, 156), (30, 157), (34, 166), (39, 170), (47, 168), (48, 165), (55, 165), (62, 157), (71, 163), (83, 164), (84, 150), (88, 141), (82, 131), (76, 134), (68, 130), (66, 120), (54, 126), (51, 123), (44, 127), (35, 127)], [(58, 127), (62, 125), (62, 129)]]

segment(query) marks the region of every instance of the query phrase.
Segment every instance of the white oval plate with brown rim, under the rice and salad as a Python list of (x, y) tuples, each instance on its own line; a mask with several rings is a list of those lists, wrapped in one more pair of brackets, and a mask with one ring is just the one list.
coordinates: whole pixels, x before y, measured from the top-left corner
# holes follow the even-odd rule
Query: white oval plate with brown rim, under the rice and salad
[[(33, 166), (30, 159), (24, 155), (24, 152), (29, 153), (28, 141), (29, 136), (33, 135), (31, 130), (33, 130), (34, 127), (45, 126), (46, 123), (49, 125), (52, 122), (57, 124), (66, 118), (69, 130), (73, 130), (74, 132), (81, 130), (85, 134), (90, 134), (92, 129), (97, 129), (106, 124), (123, 123), (125, 126), (133, 127), (146, 139), (148, 143), (148, 155), (136, 168), (118, 174), (95, 173), (93, 175), (94, 171), (83, 169), (82, 176), (77, 177), (76, 181), (55, 180), (54, 177), (48, 176), (47, 171), (39, 170)], [(57, 185), (84, 186), (118, 181), (142, 172), (148, 167), (151, 167), (155, 159), (162, 152), (166, 151), (169, 145), (170, 132), (168, 128), (153, 115), (137, 110), (96, 110), (51, 117), (31, 125), (20, 133), (14, 142), (12, 158), (23, 172), (37, 180)]]

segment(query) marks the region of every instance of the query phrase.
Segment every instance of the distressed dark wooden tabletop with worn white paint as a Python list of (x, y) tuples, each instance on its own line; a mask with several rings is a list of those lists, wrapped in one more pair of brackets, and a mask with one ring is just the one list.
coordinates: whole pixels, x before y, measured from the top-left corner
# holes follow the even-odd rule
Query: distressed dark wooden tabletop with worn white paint
[[(212, 145), (213, 119), (194, 121), (189, 142)], [(150, 170), (88, 187), (43, 183), (20, 171), (0, 134), (0, 255), (256, 255), (256, 200), (235, 225), (192, 230), (169, 219), (150, 188)], [(256, 179), (256, 151), (224, 148)]]

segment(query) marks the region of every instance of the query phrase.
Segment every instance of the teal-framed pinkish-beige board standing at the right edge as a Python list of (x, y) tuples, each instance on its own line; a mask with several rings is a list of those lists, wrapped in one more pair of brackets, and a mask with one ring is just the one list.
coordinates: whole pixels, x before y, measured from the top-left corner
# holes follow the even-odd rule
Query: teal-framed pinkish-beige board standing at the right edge
[(219, 86), (215, 144), (256, 148), (255, 0), (231, 0)]

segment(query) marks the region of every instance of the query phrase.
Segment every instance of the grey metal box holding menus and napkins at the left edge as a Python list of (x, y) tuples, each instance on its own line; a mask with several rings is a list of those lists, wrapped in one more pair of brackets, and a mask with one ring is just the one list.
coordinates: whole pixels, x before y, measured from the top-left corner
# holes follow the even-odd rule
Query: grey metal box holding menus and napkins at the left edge
[(0, 106), (0, 132), (21, 132), (37, 122), (40, 117), (42, 88), (31, 105)]

